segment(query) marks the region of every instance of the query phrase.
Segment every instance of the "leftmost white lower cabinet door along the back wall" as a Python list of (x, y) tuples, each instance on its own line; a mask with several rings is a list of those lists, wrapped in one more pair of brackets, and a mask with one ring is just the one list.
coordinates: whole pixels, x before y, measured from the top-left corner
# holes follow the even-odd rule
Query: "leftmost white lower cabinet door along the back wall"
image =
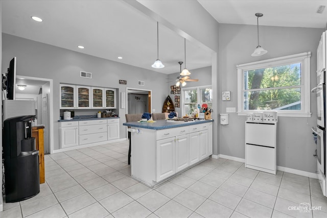
[(78, 122), (60, 123), (60, 148), (78, 146)]

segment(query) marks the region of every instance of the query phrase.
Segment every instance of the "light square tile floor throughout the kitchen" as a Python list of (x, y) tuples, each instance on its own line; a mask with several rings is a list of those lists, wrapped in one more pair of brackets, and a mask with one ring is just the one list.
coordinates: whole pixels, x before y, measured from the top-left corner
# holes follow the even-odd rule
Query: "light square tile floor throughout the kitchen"
[[(130, 177), (128, 142), (45, 156), (34, 198), (4, 203), (1, 217), (327, 217), (316, 179), (272, 175), (208, 159), (156, 188)], [(302, 203), (321, 207), (299, 211)]]

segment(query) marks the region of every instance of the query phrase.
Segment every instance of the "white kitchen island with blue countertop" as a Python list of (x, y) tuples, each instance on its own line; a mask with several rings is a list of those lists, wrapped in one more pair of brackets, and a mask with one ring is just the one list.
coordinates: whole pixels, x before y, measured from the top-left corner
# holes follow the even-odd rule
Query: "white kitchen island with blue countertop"
[(213, 122), (128, 122), (131, 176), (151, 187), (213, 154)]

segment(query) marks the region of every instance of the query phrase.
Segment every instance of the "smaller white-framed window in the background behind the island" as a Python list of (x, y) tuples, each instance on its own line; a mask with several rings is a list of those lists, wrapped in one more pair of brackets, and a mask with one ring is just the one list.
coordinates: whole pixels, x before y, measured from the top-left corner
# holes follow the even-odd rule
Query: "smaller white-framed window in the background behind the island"
[(211, 86), (200, 86), (182, 89), (182, 115), (192, 115), (198, 109), (198, 105), (207, 104), (212, 108), (213, 95)]

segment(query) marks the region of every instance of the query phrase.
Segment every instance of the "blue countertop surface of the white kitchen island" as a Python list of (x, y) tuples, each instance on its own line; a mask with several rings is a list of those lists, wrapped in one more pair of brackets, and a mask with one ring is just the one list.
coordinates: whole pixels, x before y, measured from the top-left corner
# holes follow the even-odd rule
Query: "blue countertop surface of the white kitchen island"
[[(161, 122), (161, 120), (156, 120), (157, 122)], [(166, 121), (166, 120), (165, 120)], [(143, 128), (143, 129), (151, 129), (151, 130), (163, 130), (163, 129), (171, 129), (176, 127), (185, 127), (185, 126), (191, 126), (191, 125), (197, 125), (197, 124), (205, 124), (205, 123), (211, 123), (214, 122), (214, 119), (204, 119), (197, 122), (185, 122), (185, 123), (169, 123), (167, 125), (167, 122), (165, 123), (165, 126), (158, 126), (158, 123), (138, 123), (138, 122), (129, 122), (129, 123), (123, 123), (123, 126), (129, 126), (129, 127), (137, 127), (137, 128)], [(152, 124), (157, 124), (156, 126), (153, 126)]]

